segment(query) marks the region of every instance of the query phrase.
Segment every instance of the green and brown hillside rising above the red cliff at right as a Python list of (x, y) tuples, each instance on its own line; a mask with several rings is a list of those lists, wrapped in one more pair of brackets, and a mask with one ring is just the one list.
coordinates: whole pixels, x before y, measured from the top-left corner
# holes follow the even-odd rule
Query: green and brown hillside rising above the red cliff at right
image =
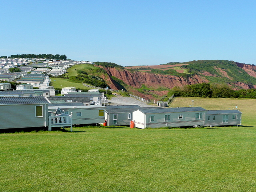
[(185, 78), (196, 73), (212, 83), (233, 84), (234, 87), (236, 82), (256, 85), (256, 78), (238, 67), (236, 62), (229, 60), (194, 60), (183, 63), (170, 62), (157, 66), (129, 66), (126, 68)]

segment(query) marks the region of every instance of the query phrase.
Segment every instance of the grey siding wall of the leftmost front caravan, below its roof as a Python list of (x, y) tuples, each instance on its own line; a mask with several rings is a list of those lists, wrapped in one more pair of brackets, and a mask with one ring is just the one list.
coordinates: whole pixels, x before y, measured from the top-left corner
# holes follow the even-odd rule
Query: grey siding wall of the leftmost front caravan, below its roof
[[(43, 106), (43, 117), (36, 117), (35, 106)], [(29, 128), (48, 126), (48, 105), (27, 104), (27, 105), (0, 105), (0, 117), (4, 121), (0, 129), (8, 128)]]

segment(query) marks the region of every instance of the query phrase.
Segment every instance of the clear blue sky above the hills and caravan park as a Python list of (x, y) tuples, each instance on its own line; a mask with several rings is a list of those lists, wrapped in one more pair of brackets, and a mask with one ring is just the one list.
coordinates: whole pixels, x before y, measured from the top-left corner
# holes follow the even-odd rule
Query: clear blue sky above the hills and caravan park
[(1, 1), (0, 56), (65, 54), (122, 66), (256, 64), (256, 1)]

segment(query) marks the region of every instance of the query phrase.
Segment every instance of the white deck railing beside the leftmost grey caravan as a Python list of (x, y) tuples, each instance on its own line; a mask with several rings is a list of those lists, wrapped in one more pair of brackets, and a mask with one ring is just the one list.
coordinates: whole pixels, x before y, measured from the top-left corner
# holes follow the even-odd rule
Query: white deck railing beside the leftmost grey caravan
[(52, 114), (49, 115), (48, 124), (49, 131), (52, 130), (52, 127), (70, 127), (70, 131), (72, 132), (72, 112), (71, 115), (68, 116), (55, 116), (55, 113), (52, 112)]

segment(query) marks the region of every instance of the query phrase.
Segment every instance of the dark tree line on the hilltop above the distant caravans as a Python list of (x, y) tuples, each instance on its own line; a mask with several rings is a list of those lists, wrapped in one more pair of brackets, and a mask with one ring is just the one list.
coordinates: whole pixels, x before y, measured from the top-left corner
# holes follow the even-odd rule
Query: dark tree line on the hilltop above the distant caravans
[(66, 60), (67, 56), (66, 55), (53, 55), (53, 54), (17, 54), (17, 55), (10, 55), (10, 56), (0, 56), (0, 58), (39, 58), (39, 59), (56, 59), (56, 60)]

